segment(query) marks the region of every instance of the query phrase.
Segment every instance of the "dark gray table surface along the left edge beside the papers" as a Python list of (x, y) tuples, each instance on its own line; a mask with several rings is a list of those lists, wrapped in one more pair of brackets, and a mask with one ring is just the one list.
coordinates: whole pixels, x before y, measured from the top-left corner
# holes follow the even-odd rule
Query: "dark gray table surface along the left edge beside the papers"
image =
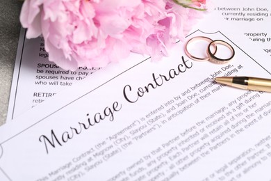
[(19, 40), (22, 2), (0, 1), (0, 125), (6, 122), (10, 85)]

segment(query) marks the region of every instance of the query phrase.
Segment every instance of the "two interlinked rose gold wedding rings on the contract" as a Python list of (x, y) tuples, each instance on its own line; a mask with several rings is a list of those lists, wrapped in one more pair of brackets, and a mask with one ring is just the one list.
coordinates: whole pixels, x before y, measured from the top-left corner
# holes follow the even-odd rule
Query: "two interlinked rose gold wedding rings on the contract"
[[(190, 52), (188, 51), (188, 46), (190, 45), (190, 43), (195, 42), (195, 41), (202, 41), (202, 40), (209, 42), (207, 50), (206, 50), (206, 57), (197, 57), (197, 56), (193, 56), (192, 54), (190, 54)], [(230, 50), (231, 54), (230, 54), (229, 58), (219, 58), (219, 57), (215, 56), (215, 54), (217, 53), (217, 45), (224, 45), (225, 47), (227, 47)], [(229, 61), (231, 61), (231, 59), (233, 58), (233, 56), (235, 54), (233, 47), (231, 47), (231, 45), (229, 45), (229, 43), (227, 43), (223, 40), (212, 40), (211, 38), (208, 38), (205, 36), (196, 36), (196, 37), (188, 40), (188, 42), (186, 43), (185, 52), (186, 52), (186, 55), (189, 58), (191, 58), (192, 60), (211, 61), (212, 63), (216, 63), (216, 64), (229, 63)]]

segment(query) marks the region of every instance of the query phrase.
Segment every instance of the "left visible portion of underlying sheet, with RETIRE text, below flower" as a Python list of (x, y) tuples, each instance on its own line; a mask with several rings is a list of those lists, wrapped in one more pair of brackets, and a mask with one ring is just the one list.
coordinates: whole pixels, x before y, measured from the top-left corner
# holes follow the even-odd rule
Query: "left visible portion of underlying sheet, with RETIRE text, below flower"
[(7, 121), (99, 70), (63, 70), (48, 60), (43, 38), (29, 40), (25, 35), (21, 29)]

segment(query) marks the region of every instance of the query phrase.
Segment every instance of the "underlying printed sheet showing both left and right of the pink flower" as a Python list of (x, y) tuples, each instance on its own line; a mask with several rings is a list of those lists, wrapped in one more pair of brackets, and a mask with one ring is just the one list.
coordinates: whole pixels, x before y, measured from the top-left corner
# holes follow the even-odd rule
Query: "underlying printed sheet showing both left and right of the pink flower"
[[(268, 59), (258, 60), (265, 68), (268, 67), (271, 56), (270, 48), (270, 2), (269, 1), (213, 1), (212, 13), (201, 19), (195, 30), (205, 32), (217, 30), (234, 36), (241, 46), (243, 40), (252, 42), (251, 47), (245, 47), (251, 56), (268, 55)], [(236, 31), (237, 30), (237, 31)], [(10, 91), (10, 104), (7, 121), (31, 109), (69, 86), (75, 84), (95, 70), (79, 68), (76, 72), (64, 71), (48, 61), (44, 52), (42, 38), (27, 40), (22, 29), (13, 76), (13, 86)], [(238, 33), (238, 34), (237, 34)]]

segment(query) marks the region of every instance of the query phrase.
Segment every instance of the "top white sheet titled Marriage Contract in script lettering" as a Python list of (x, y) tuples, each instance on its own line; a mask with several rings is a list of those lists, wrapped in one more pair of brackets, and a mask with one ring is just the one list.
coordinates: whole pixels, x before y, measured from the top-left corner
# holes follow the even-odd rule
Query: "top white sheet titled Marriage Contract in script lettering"
[(212, 80), (270, 73), (222, 32), (195, 36), (233, 61), (192, 61), (178, 42), (95, 72), (0, 127), (0, 180), (270, 180), (270, 93)]

